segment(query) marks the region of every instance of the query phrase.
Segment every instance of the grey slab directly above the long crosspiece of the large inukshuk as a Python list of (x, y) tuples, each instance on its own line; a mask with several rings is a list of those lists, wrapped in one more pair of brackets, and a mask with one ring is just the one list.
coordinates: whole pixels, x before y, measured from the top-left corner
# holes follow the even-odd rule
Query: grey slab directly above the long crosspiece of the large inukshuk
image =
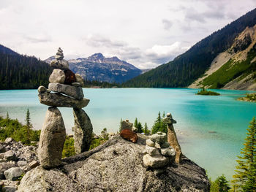
[(83, 99), (83, 89), (71, 85), (61, 84), (59, 82), (50, 82), (48, 85), (50, 91), (64, 93), (67, 96), (72, 96), (75, 99)]

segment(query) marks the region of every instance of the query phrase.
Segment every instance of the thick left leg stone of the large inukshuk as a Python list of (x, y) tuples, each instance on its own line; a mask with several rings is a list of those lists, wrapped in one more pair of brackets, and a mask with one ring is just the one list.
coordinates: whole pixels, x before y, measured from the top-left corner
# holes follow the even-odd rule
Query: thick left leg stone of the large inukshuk
[(66, 131), (61, 112), (56, 107), (49, 107), (38, 147), (38, 158), (44, 168), (56, 167), (61, 164), (65, 137)]

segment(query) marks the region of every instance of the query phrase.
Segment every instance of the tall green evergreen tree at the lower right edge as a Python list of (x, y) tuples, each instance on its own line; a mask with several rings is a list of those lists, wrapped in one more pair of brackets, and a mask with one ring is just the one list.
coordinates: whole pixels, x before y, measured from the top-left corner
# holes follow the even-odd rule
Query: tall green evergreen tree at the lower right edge
[(234, 190), (256, 191), (256, 120), (252, 118), (249, 128), (247, 128), (247, 137), (244, 142), (244, 148), (241, 149), (241, 156), (238, 156), (238, 166), (233, 175)]

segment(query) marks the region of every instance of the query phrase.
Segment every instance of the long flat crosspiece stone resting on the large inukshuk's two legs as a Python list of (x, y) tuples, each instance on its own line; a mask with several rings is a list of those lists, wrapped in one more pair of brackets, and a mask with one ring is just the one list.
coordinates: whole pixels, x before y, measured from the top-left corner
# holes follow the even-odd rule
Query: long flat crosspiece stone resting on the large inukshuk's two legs
[(69, 96), (64, 96), (59, 93), (39, 93), (39, 101), (41, 104), (46, 104), (48, 106), (55, 107), (73, 107), (73, 108), (83, 108), (89, 104), (89, 99), (72, 99)]

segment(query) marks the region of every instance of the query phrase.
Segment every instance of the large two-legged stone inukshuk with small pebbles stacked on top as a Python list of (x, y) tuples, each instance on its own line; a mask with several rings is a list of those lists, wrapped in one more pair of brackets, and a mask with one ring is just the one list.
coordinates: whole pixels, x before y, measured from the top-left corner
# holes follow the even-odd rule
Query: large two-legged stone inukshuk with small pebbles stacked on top
[(91, 120), (82, 110), (90, 101), (83, 99), (83, 78), (69, 70), (68, 61), (63, 58), (63, 51), (59, 48), (55, 59), (50, 63), (53, 72), (49, 77), (48, 89), (44, 86), (38, 88), (40, 103), (50, 106), (45, 115), (38, 148), (39, 161), (45, 169), (61, 164), (66, 131), (61, 112), (57, 107), (73, 108), (75, 126), (72, 131), (74, 131), (75, 153), (89, 150), (91, 143)]

